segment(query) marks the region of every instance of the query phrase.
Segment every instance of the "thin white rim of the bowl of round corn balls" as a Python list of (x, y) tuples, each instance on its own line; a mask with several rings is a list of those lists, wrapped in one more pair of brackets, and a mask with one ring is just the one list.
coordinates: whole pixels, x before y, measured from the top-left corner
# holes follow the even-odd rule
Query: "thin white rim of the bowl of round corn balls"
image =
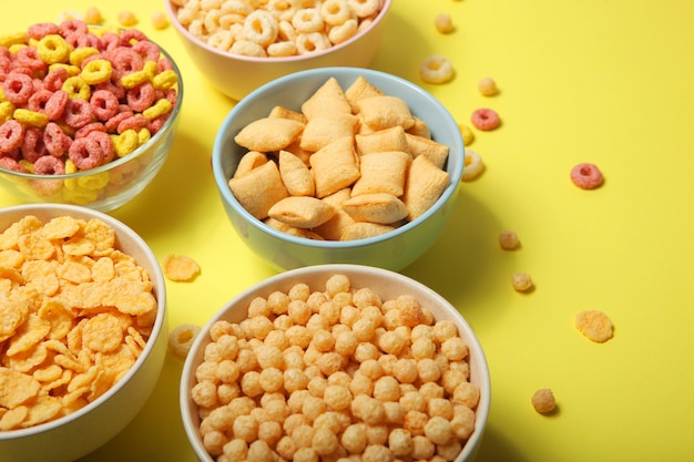
[[(183, 421), (183, 427), (185, 429), (186, 435), (188, 437), (188, 441), (191, 442), (193, 450), (198, 455), (201, 461), (207, 461), (212, 459), (210, 459), (210, 455), (204, 450), (204, 448), (202, 448), (201, 444), (197, 444), (198, 439), (195, 438), (198, 435), (198, 428), (193, 424), (194, 417), (191, 415), (191, 413), (188, 412), (191, 410), (191, 405), (190, 405), (191, 401), (188, 397), (188, 388), (191, 386), (191, 382), (188, 381), (188, 378), (193, 376), (193, 367), (194, 367), (194, 362), (196, 361), (196, 358), (195, 358), (196, 355), (194, 355), (194, 351), (200, 350), (202, 345), (208, 341), (207, 333), (210, 332), (211, 327), (216, 321), (224, 318), (229, 310), (234, 309), (235, 305), (237, 305), (239, 300), (248, 297), (249, 295), (254, 292), (262, 291), (268, 287), (272, 287), (277, 281), (282, 281), (283, 279), (287, 279), (287, 278), (300, 279), (302, 277), (310, 276), (313, 274), (326, 274), (326, 273), (340, 274), (340, 273), (350, 273), (350, 271), (371, 274), (371, 275), (381, 275), (381, 276), (394, 278), (395, 280), (401, 284), (412, 286), (417, 290), (427, 292), (431, 298), (438, 300), (438, 302), (441, 306), (443, 306), (446, 309), (457, 311), (460, 315), (460, 318), (459, 318), (460, 326), (462, 327), (462, 329), (466, 331), (467, 336), (469, 337), (470, 350), (474, 351), (474, 356), (480, 360), (480, 363), (478, 365), (478, 369), (479, 369), (480, 377), (482, 380), (481, 380), (481, 383), (479, 384), (480, 400), (479, 400), (479, 403), (477, 404), (477, 410), (481, 409), (483, 410), (483, 412), (478, 415), (478, 411), (476, 411), (476, 429), (472, 432), (472, 435), (468, 440), (466, 440), (463, 449), (460, 452), (460, 454), (456, 458), (456, 461), (466, 460), (468, 456), (472, 454), (472, 451), (474, 451), (476, 448), (478, 448), (480, 440), (483, 437), (484, 430), (487, 428), (487, 420), (488, 420), (489, 410), (491, 405), (491, 378), (490, 378), (490, 372), (489, 372), (489, 363), (487, 362), (487, 356), (484, 353), (482, 345), (480, 343), (479, 338), (474, 333), (474, 330), (472, 329), (470, 324), (467, 321), (465, 316), (462, 316), (462, 314), (455, 306), (452, 306), (446, 298), (443, 298), (443, 296), (438, 294), (436, 290), (400, 273), (392, 271), (390, 269), (380, 268), (380, 267), (368, 266), (368, 265), (320, 264), (320, 265), (305, 266), (305, 267), (278, 273), (241, 291), (235, 297), (229, 299), (226, 304), (224, 304), (222, 308), (220, 308), (207, 320), (207, 322), (205, 322), (200, 333), (193, 341), (193, 345), (191, 346), (190, 352), (183, 365), (183, 370), (181, 372), (178, 403), (181, 407), (181, 418)], [(194, 440), (195, 442), (192, 440)]]

